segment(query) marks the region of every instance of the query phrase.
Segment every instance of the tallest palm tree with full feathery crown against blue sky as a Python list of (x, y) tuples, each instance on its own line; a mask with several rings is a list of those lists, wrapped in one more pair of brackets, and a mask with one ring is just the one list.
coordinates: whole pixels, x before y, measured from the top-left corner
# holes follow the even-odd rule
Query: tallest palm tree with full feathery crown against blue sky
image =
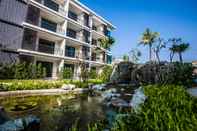
[(140, 44), (149, 46), (149, 60), (152, 60), (152, 45), (155, 43), (157, 37), (159, 37), (158, 32), (152, 32), (149, 28), (145, 30), (140, 40)]

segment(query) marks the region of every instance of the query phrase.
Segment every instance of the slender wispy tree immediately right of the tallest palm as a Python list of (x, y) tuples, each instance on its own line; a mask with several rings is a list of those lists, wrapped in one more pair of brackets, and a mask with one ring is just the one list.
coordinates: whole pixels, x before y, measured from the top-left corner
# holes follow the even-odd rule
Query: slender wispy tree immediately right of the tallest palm
[(155, 44), (155, 46), (153, 47), (153, 51), (155, 52), (155, 55), (157, 57), (157, 61), (160, 63), (160, 51), (166, 48), (166, 42), (164, 41), (164, 39), (162, 38), (158, 38), (157, 40), (157, 44)]

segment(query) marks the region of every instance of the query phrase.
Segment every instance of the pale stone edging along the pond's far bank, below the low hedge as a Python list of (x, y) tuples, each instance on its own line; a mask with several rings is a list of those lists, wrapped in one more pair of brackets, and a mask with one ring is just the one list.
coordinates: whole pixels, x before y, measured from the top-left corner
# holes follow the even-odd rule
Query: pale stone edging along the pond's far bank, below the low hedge
[(60, 95), (68, 93), (81, 94), (87, 92), (89, 89), (76, 88), (74, 90), (64, 89), (42, 89), (42, 90), (20, 90), (20, 91), (6, 91), (0, 92), (1, 97), (20, 97), (20, 96), (36, 96), (36, 95)]

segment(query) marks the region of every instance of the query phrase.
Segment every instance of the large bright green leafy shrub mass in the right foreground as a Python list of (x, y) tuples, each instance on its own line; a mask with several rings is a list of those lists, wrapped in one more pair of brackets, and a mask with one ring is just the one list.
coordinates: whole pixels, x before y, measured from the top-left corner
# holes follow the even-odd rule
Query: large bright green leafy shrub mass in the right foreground
[(182, 86), (147, 86), (147, 101), (139, 113), (117, 119), (114, 129), (124, 131), (195, 131), (197, 104)]

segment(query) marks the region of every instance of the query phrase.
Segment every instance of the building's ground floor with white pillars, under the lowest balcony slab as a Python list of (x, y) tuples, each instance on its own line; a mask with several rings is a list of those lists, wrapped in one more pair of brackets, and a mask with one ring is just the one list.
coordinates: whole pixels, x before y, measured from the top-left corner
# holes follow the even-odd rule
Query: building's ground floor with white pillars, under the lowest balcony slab
[(98, 63), (60, 59), (55, 57), (46, 57), (39, 55), (19, 55), (20, 62), (34, 63), (36, 65), (40, 64), (46, 69), (46, 78), (58, 79), (61, 76), (62, 70), (69, 68), (72, 70), (72, 79), (79, 80), (82, 70), (84, 70), (84, 65), (86, 70), (95, 70), (97, 74), (102, 72), (104, 65), (99, 65)]

